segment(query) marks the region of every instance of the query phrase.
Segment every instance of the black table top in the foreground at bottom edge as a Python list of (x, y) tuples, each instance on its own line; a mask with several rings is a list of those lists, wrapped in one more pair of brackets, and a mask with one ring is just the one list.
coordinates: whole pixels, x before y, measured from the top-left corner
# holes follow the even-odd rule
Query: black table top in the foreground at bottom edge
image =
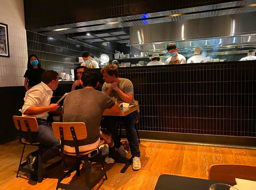
[(155, 190), (209, 190), (210, 186), (214, 183), (235, 185), (235, 183), (162, 174), (157, 180)]

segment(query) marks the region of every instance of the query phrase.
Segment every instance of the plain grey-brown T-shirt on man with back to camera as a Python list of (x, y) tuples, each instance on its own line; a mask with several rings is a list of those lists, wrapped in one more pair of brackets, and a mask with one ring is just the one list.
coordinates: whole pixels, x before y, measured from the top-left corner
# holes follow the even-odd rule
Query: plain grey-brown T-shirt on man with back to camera
[(84, 122), (87, 138), (83, 145), (92, 144), (99, 139), (103, 111), (114, 104), (110, 96), (92, 88), (69, 92), (64, 100), (64, 122)]

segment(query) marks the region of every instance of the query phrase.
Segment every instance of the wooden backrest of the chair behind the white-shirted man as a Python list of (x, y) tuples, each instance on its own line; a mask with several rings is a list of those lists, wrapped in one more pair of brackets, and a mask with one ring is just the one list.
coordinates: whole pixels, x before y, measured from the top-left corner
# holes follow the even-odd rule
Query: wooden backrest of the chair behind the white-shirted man
[(15, 128), (19, 131), (31, 132), (38, 129), (37, 119), (35, 117), (25, 117), (25, 116), (12, 116)]

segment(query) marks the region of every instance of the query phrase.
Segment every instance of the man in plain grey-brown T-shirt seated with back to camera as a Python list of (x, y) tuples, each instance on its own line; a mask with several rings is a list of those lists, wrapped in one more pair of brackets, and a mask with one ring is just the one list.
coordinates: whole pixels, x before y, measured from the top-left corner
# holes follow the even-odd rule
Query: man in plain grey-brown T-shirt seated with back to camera
[[(79, 142), (80, 152), (97, 148), (99, 137), (104, 138), (109, 147), (114, 145), (111, 137), (101, 132), (100, 123), (105, 109), (119, 112), (120, 107), (110, 96), (95, 90), (98, 81), (97, 73), (85, 70), (81, 78), (83, 89), (70, 92), (64, 100), (64, 122), (84, 122), (86, 125), (87, 138)], [(64, 150), (75, 152), (74, 147), (65, 146)]]

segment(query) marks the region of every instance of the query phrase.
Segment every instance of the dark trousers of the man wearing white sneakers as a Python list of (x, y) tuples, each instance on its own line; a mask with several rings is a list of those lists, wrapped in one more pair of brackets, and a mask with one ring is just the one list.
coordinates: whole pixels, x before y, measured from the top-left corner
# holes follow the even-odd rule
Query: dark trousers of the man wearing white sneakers
[[(138, 135), (135, 129), (135, 122), (138, 120), (137, 111), (134, 111), (126, 116), (104, 116), (104, 118), (106, 128), (112, 135), (114, 141), (114, 148), (119, 148), (121, 146), (121, 138), (118, 134), (117, 123), (123, 122), (132, 157), (140, 157)], [(113, 157), (111, 152), (113, 151), (109, 151), (109, 157)]]

